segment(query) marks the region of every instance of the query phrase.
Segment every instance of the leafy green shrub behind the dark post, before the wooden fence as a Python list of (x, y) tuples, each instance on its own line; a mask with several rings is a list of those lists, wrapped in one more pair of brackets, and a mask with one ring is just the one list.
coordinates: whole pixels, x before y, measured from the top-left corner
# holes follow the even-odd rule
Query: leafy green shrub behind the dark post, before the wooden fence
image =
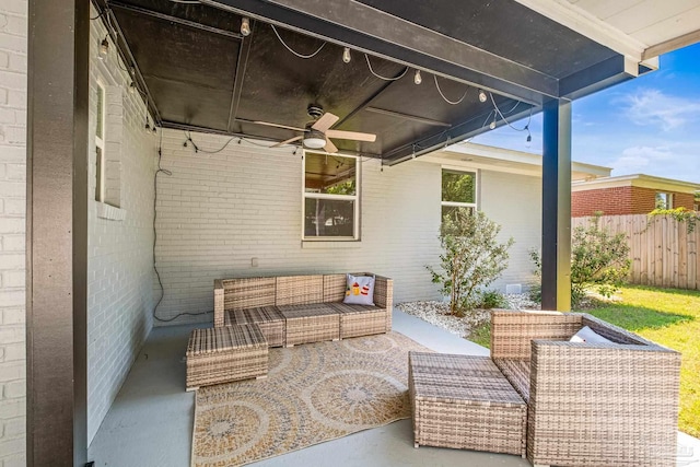
[[(574, 229), (571, 238), (571, 306), (578, 308), (586, 291), (593, 289), (603, 296), (617, 292), (630, 271), (628, 258), (630, 247), (627, 237), (620, 233), (610, 234), (600, 229), (600, 215), (596, 214), (587, 226)], [(535, 262), (535, 277), (541, 279), (541, 259), (539, 253), (530, 250)], [(530, 297), (538, 290), (530, 291)], [(541, 291), (541, 287), (539, 289)], [(541, 294), (539, 295), (541, 300)]]

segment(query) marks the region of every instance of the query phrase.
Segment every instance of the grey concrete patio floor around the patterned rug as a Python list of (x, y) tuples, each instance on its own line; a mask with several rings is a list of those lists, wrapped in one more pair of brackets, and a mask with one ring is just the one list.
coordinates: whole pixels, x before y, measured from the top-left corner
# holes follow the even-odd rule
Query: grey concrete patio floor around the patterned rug
[[(188, 467), (195, 394), (185, 392), (184, 355), (196, 326), (154, 328), (89, 451), (95, 466)], [(438, 352), (488, 355), (488, 349), (394, 311), (394, 330)], [(250, 464), (259, 467), (528, 466), (518, 456), (413, 447), (410, 420)], [(700, 467), (700, 441), (679, 433), (678, 466)]]

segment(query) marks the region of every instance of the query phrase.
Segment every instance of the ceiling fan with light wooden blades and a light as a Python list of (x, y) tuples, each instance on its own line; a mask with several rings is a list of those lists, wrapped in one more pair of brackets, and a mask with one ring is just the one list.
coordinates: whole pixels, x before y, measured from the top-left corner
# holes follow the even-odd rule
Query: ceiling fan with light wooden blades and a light
[(331, 130), (339, 119), (337, 115), (329, 112), (325, 112), (319, 105), (310, 105), (306, 109), (308, 116), (313, 118), (312, 121), (306, 124), (305, 128), (290, 127), (287, 125), (270, 124), (268, 121), (255, 121), (258, 125), (267, 125), (269, 127), (284, 128), (288, 130), (302, 131), (303, 135), (294, 138), (290, 138), (285, 141), (278, 142), (272, 148), (289, 144), (294, 141), (302, 141), (305, 148), (310, 149), (324, 149), (326, 152), (338, 152), (338, 148), (330, 141), (330, 138), (346, 139), (353, 141), (376, 141), (376, 135), (362, 133), (359, 131), (345, 131), (345, 130)]

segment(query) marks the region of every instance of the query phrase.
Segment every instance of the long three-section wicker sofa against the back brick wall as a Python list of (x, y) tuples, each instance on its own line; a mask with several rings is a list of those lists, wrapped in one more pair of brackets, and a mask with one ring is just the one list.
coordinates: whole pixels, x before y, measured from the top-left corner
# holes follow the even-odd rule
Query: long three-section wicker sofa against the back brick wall
[(375, 306), (342, 303), (346, 284), (343, 273), (219, 279), (214, 327), (256, 324), (270, 347), (389, 331), (393, 280), (375, 276)]

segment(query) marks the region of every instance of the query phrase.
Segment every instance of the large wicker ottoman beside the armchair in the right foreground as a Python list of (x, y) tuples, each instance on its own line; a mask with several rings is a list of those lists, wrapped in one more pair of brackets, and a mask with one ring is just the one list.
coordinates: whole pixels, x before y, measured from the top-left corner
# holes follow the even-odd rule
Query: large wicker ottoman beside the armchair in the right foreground
[(527, 406), (488, 357), (409, 352), (415, 445), (525, 457)]

